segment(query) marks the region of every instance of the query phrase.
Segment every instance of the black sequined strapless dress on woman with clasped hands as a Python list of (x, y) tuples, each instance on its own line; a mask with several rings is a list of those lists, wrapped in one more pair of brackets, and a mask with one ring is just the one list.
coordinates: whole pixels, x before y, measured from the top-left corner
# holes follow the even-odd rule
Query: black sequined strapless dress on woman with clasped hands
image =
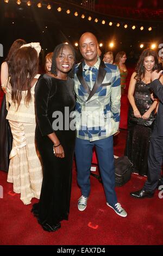
[[(142, 81), (137, 82), (135, 84), (134, 99), (137, 109), (139, 109), (140, 114), (143, 115), (153, 103), (149, 92), (149, 84)], [(133, 172), (140, 175), (147, 175), (149, 142), (154, 121), (152, 126), (143, 125), (143, 120), (142, 125), (131, 124), (130, 118), (132, 115), (134, 115), (133, 108), (130, 106), (125, 155), (128, 156), (129, 160), (134, 164)], [(154, 111), (151, 113), (149, 119), (155, 119)]]

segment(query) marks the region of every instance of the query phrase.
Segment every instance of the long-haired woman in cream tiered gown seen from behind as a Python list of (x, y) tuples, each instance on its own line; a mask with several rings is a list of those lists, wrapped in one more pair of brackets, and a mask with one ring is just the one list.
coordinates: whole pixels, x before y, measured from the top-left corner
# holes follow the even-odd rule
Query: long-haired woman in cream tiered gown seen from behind
[(7, 102), (10, 103), (7, 119), (13, 136), (10, 152), (8, 182), (15, 193), (21, 194), (24, 204), (40, 198), (42, 168), (35, 149), (34, 88), (37, 82), (39, 43), (23, 45), (18, 49), (5, 85)]

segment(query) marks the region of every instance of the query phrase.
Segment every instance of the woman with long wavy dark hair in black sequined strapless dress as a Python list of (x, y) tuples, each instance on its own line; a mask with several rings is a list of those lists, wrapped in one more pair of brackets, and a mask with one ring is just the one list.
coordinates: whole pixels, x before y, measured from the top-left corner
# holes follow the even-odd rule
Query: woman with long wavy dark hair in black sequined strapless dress
[(157, 100), (151, 100), (149, 91), (154, 70), (159, 70), (158, 54), (152, 49), (146, 49), (137, 62), (128, 90), (130, 107), (125, 155), (134, 164), (133, 172), (140, 175), (148, 173), (148, 148), (158, 103)]

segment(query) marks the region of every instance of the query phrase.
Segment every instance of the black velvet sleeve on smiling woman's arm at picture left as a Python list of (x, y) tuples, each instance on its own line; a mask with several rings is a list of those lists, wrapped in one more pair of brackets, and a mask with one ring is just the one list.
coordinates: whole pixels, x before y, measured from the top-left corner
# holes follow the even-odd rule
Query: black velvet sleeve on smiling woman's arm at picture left
[(51, 122), (48, 118), (48, 100), (51, 91), (51, 80), (48, 78), (39, 78), (35, 86), (35, 113), (36, 121), (39, 125), (42, 136), (48, 135), (53, 131)]

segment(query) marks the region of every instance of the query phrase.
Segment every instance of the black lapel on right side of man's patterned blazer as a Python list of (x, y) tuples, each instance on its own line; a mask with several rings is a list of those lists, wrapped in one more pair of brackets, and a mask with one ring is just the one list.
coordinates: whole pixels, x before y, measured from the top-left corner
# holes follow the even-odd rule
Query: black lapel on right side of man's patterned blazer
[(101, 60), (101, 63), (99, 65), (99, 69), (98, 69), (98, 75), (96, 78), (96, 82), (91, 90), (89, 97), (87, 98), (87, 101), (91, 99), (91, 97), (96, 93), (97, 89), (101, 86), (101, 84), (104, 80), (104, 77), (106, 75), (106, 70), (104, 68), (105, 68), (105, 64), (104, 64), (103, 60)]

